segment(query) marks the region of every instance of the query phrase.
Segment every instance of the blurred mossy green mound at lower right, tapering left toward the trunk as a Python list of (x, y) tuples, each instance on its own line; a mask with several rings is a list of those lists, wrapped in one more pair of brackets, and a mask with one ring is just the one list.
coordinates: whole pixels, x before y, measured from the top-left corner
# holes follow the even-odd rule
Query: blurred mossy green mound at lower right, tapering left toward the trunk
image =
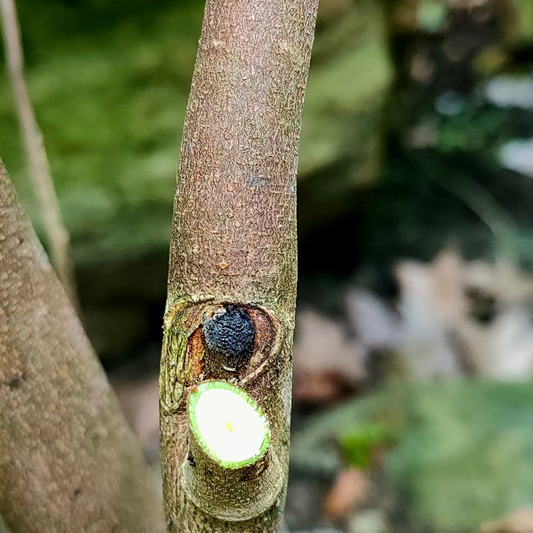
[(324, 475), (341, 460), (366, 467), (372, 446), (392, 443), (384, 490), (399, 523), (413, 533), (477, 531), (533, 500), (531, 405), (530, 383), (396, 386), (314, 418), (294, 435), (291, 461)]

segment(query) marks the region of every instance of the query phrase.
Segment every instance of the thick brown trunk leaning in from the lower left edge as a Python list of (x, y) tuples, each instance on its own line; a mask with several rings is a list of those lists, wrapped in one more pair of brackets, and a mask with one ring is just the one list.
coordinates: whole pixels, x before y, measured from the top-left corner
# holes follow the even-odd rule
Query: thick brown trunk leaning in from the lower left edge
[(24, 533), (164, 530), (140, 446), (1, 161), (0, 514)]

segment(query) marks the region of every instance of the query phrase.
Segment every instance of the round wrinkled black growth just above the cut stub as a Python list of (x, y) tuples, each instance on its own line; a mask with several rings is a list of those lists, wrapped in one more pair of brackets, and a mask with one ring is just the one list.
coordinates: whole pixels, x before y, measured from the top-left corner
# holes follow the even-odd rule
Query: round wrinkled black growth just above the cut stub
[(238, 305), (225, 305), (205, 318), (202, 333), (209, 350), (227, 357), (250, 357), (254, 350), (254, 322)]

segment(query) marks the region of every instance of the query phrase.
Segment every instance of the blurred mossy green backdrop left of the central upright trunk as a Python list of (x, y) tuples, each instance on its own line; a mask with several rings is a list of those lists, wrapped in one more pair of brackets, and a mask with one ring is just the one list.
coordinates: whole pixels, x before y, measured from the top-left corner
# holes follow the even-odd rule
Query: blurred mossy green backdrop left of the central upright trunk
[[(19, 3), (29, 91), (77, 262), (168, 244), (202, 9), (117, 4)], [(13, 109), (4, 76), (0, 152), (39, 228)]]

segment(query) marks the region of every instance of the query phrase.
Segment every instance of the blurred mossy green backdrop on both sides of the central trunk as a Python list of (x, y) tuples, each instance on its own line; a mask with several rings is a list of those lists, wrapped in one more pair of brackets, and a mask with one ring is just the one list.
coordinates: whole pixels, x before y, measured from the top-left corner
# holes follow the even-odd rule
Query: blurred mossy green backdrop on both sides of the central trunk
[[(21, 0), (27, 79), (76, 263), (167, 249), (203, 1)], [(373, 180), (390, 80), (382, 6), (359, 0), (317, 33), (300, 176), (348, 158), (327, 190)], [(356, 36), (356, 38), (354, 38)], [(316, 64), (314, 64), (316, 63)], [(354, 72), (364, 71), (364, 78)], [(0, 154), (39, 230), (6, 76)]]

